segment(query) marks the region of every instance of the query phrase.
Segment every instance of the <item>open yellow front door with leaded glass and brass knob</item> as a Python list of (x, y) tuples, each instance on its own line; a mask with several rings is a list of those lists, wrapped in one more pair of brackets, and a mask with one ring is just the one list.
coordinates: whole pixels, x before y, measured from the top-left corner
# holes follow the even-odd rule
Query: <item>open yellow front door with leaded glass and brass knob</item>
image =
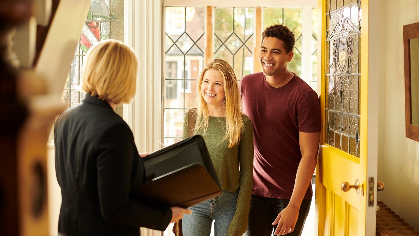
[(368, 117), (374, 110), (368, 97), (372, 2), (377, 0), (319, 0), (323, 122), (316, 170), (319, 236), (375, 235), (377, 157), (367, 148), (377, 142), (369, 135), (375, 124)]

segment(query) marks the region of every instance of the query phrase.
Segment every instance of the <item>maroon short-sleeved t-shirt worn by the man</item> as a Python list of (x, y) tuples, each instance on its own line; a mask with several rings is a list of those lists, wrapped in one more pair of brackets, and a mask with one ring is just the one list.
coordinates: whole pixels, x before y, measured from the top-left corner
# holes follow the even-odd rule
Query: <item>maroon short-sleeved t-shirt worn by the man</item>
[[(262, 72), (241, 82), (243, 111), (254, 135), (252, 194), (290, 199), (301, 160), (299, 132), (321, 130), (317, 93), (300, 77), (282, 87), (270, 86)], [(309, 184), (304, 199), (313, 197)]]

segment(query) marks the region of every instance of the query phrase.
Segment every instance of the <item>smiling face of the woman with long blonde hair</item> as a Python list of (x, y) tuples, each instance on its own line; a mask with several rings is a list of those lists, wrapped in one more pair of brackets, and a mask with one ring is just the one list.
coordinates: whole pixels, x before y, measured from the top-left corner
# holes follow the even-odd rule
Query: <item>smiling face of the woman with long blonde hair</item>
[(222, 74), (215, 70), (204, 73), (201, 84), (201, 95), (207, 102), (208, 108), (220, 108), (225, 100), (224, 79)]

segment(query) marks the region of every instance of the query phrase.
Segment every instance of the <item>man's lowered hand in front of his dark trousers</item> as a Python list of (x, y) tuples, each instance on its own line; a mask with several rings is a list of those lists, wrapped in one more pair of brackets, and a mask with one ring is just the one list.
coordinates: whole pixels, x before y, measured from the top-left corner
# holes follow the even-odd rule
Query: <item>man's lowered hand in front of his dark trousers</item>
[(279, 212), (277, 218), (274, 220), (272, 225), (277, 225), (274, 235), (283, 235), (294, 231), (295, 223), (298, 219), (299, 207), (292, 207), (288, 205), (281, 212)]

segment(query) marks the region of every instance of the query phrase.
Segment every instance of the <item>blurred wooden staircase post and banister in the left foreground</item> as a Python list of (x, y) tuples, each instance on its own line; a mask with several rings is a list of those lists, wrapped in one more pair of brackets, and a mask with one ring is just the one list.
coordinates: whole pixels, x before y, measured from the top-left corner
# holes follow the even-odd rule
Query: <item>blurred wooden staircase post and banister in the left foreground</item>
[(47, 141), (90, 0), (0, 0), (0, 235), (48, 235)]

